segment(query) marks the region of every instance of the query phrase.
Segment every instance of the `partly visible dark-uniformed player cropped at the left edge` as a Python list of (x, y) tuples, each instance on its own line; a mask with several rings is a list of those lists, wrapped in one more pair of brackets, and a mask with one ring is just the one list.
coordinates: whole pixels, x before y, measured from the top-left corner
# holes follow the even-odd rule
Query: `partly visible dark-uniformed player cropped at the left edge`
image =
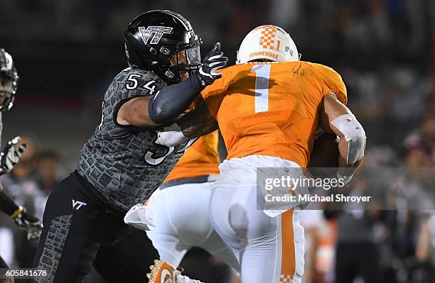
[[(3, 48), (0, 48), (0, 144), (1, 133), (3, 132), (2, 113), (8, 111), (14, 104), (14, 96), (18, 86), (18, 72), (11, 55)], [(16, 137), (10, 140), (0, 153), (0, 176), (7, 174), (14, 169), (19, 162), (21, 155), (26, 150), (26, 145), (14, 148), (21, 138)], [(38, 239), (41, 235), (42, 224), (38, 218), (29, 215), (22, 206), (18, 206), (10, 196), (4, 192), (0, 183), (0, 210), (6, 213), (15, 223), (27, 232), (28, 240)], [(0, 268), (8, 268), (0, 257)], [(0, 274), (3, 275), (3, 274)], [(0, 279), (0, 282), (14, 282), (12, 278)]]

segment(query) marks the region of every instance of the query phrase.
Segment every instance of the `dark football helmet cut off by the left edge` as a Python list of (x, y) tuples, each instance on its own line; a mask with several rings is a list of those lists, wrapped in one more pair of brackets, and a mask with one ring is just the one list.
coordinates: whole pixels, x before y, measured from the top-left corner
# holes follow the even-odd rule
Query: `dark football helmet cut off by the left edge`
[(0, 111), (7, 111), (14, 105), (18, 79), (11, 55), (0, 48)]

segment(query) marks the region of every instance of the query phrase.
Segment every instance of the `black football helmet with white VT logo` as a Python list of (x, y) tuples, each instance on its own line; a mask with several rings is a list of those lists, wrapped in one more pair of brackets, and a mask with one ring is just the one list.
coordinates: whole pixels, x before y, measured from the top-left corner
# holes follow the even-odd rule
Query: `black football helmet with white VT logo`
[(142, 13), (129, 23), (124, 40), (129, 65), (153, 71), (167, 84), (181, 82), (180, 72), (199, 70), (202, 42), (186, 18), (173, 11)]

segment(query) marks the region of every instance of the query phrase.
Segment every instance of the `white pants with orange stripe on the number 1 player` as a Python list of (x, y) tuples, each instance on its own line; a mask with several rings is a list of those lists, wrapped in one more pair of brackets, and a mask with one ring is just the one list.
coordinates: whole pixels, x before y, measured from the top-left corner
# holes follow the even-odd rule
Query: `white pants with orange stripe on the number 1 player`
[(257, 208), (257, 167), (299, 165), (261, 155), (222, 163), (210, 198), (213, 228), (240, 256), (243, 283), (299, 283), (304, 273), (301, 210), (270, 217)]

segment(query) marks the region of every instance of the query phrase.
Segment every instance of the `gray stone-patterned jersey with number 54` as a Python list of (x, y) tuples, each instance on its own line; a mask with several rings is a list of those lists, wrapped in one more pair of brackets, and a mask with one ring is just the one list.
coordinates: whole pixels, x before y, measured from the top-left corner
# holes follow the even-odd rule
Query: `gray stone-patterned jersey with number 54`
[(78, 172), (113, 209), (127, 211), (148, 199), (187, 148), (154, 143), (154, 128), (117, 123), (122, 104), (137, 96), (156, 94), (165, 86), (153, 72), (127, 68), (117, 74), (104, 95), (102, 122), (83, 145)]

